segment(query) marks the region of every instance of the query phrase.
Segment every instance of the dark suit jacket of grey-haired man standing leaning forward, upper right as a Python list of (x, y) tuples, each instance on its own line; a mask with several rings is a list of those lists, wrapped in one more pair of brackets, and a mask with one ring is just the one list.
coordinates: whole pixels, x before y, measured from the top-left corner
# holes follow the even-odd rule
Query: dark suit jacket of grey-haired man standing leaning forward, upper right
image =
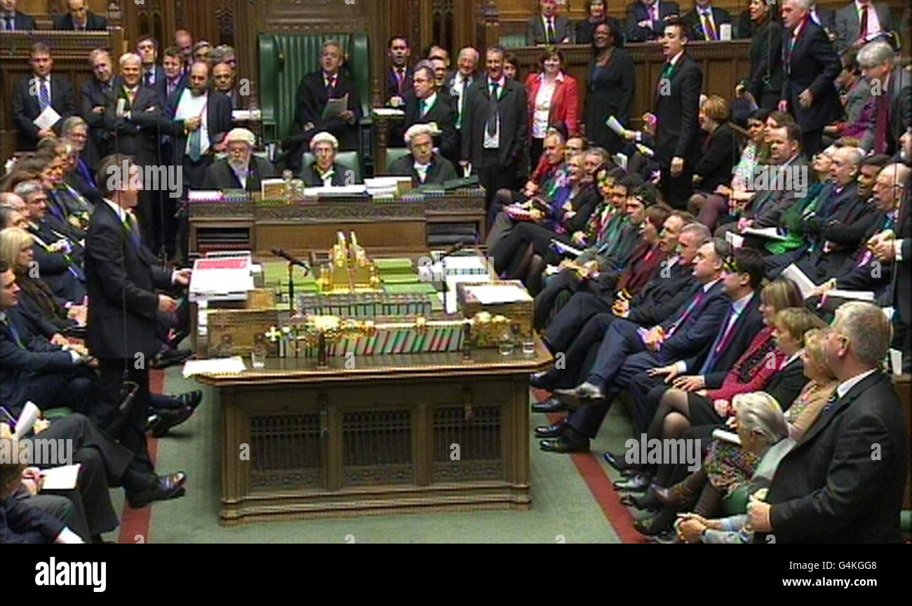
[[(834, 80), (842, 65), (824, 28), (810, 18), (804, 23), (798, 40), (789, 53), (792, 30), (782, 32), (782, 100), (789, 102), (789, 111), (803, 131), (824, 128), (842, 113)], [(814, 94), (811, 107), (801, 108), (798, 96), (804, 89)]]

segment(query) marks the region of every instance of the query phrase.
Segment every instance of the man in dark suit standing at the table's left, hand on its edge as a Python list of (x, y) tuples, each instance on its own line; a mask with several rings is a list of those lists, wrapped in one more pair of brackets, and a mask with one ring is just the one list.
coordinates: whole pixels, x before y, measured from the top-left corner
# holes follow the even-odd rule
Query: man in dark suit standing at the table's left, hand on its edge
[[(88, 274), (88, 351), (98, 359), (100, 412), (119, 416), (124, 379), (135, 392), (119, 424), (120, 444), (130, 449), (138, 468), (154, 474), (146, 447), (150, 411), (149, 363), (159, 351), (159, 313), (175, 313), (178, 302), (157, 291), (185, 288), (190, 271), (166, 271), (142, 241), (132, 214), (139, 202), (140, 167), (115, 154), (101, 161), (98, 187), (105, 200), (95, 207), (86, 238)], [(161, 478), (161, 498), (183, 495), (183, 473)]]

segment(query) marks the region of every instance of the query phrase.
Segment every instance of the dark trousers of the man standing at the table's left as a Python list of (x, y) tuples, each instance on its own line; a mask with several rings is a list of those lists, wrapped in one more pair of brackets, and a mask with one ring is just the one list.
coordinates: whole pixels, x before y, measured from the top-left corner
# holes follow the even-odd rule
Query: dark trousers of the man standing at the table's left
[(124, 360), (114, 358), (100, 358), (98, 360), (98, 370), (100, 378), (98, 386), (104, 394), (104, 401), (108, 409), (102, 417), (102, 426), (116, 427), (114, 437), (118, 438), (120, 444), (135, 457), (136, 468), (144, 473), (154, 473), (154, 467), (149, 457), (149, 449), (146, 447), (146, 422), (149, 418), (149, 370), (147, 365), (150, 360), (143, 360), (141, 368), (137, 368), (134, 360), (126, 360), (127, 380), (136, 383), (138, 386), (136, 395), (133, 397), (131, 406), (126, 411), (125, 416), (121, 417), (117, 409), (121, 401), (120, 390), (123, 386)]

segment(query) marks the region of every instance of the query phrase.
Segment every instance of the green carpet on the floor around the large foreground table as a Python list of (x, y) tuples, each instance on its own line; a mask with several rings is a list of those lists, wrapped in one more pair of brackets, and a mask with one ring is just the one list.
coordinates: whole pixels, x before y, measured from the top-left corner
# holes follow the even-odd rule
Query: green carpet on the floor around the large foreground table
[[(198, 388), (195, 382), (184, 380), (180, 371), (180, 368), (166, 371), (165, 393)], [(573, 460), (565, 455), (544, 453), (534, 441), (533, 507), (529, 511), (402, 514), (221, 527), (218, 524), (221, 472), (217, 451), (220, 417), (212, 391), (204, 388), (204, 393), (205, 398), (196, 414), (159, 441), (156, 467), (161, 472), (187, 471), (188, 489), (185, 497), (152, 507), (150, 536), (143, 538), (146, 542), (344, 543), (348, 542), (347, 535), (354, 536), (355, 542), (359, 543), (554, 543), (558, 541), (558, 535), (563, 535), (568, 543), (619, 540)], [(544, 415), (532, 415), (532, 425), (544, 422)], [(608, 447), (621, 447), (629, 436), (627, 419), (618, 414), (617, 408), (611, 411), (605, 426), (606, 430), (594, 443), (596, 454)], [(117, 493), (118, 496), (122, 494)], [(120, 502), (122, 497), (119, 497), (118, 508)]]

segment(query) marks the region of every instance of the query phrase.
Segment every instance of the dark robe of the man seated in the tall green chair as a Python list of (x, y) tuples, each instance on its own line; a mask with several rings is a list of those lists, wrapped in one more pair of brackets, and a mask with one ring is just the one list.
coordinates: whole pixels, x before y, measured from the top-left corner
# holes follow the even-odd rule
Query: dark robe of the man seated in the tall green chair
[[(348, 95), (348, 109), (355, 114), (354, 123), (349, 124), (342, 118), (323, 118), (323, 111), (329, 98), (345, 97), (346, 94)], [(301, 78), (295, 95), (295, 108), (295, 125), (292, 127), (293, 135), (303, 133), (306, 141), (309, 141), (316, 133), (326, 130), (339, 140), (339, 149), (358, 149), (358, 122), (361, 119), (361, 100), (358, 98), (358, 89), (355, 87), (355, 82), (345, 76), (345, 74), (339, 74), (336, 87), (332, 90), (331, 95), (326, 89), (322, 69), (317, 69), (315, 72), (311, 72)], [(308, 122), (313, 123), (314, 126), (305, 130), (304, 127)], [(304, 149), (301, 148), (301, 151), (303, 152)]]

